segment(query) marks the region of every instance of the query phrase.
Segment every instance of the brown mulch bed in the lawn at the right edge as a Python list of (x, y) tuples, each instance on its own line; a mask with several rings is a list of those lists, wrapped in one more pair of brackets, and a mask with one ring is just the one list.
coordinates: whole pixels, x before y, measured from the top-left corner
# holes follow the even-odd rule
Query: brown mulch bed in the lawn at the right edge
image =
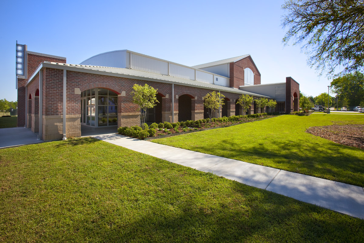
[(306, 132), (326, 138), (337, 144), (364, 149), (364, 125), (313, 126), (308, 128)]

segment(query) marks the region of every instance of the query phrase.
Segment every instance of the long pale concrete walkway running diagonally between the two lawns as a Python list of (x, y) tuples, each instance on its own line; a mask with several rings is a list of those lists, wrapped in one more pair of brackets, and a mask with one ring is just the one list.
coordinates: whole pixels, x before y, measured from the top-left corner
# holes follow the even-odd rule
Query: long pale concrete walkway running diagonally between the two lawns
[(104, 134), (111, 144), (364, 219), (364, 188), (210, 154)]

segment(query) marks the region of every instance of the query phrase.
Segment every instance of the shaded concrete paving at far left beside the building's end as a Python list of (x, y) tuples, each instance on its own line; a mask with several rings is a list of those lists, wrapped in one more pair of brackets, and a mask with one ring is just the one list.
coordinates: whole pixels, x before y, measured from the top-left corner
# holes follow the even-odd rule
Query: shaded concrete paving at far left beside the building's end
[(0, 149), (44, 142), (28, 128), (1, 128)]

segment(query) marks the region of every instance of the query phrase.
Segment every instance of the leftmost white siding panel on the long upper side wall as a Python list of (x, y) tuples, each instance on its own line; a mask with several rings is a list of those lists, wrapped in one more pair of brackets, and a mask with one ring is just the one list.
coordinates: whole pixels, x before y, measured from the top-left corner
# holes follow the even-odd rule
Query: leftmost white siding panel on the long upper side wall
[(168, 75), (168, 62), (132, 53), (131, 68)]

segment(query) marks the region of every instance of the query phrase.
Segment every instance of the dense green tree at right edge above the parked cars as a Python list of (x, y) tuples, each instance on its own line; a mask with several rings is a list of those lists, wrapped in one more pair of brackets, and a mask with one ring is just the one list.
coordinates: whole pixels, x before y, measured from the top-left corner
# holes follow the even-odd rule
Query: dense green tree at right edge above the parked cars
[(364, 101), (364, 77), (360, 72), (335, 78), (330, 85), (339, 97), (348, 101), (349, 106), (358, 106)]

